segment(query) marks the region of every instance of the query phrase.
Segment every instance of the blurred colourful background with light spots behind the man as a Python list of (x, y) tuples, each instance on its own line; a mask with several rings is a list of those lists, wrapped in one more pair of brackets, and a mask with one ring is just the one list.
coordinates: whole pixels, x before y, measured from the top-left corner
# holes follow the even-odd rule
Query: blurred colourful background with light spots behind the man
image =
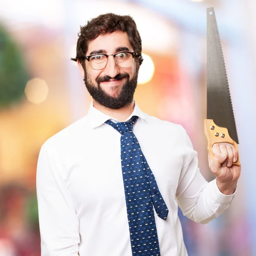
[[(232, 206), (209, 224), (179, 212), (189, 256), (256, 256), (256, 2), (253, 0), (0, 0), (0, 256), (39, 256), (35, 175), (41, 145), (83, 117), (91, 97), (76, 63), (80, 25), (131, 15), (143, 43), (135, 100), (186, 128), (207, 161), (206, 8), (215, 7), (239, 134)], [(218, 104), (218, 102), (216, 102)]]

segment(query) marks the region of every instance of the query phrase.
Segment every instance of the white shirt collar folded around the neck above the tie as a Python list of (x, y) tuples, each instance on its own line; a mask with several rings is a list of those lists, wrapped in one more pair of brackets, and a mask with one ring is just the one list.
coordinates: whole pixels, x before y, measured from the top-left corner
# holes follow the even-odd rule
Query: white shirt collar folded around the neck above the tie
[[(146, 120), (145, 113), (143, 113), (140, 108), (138, 107), (137, 103), (134, 101), (134, 111), (131, 113), (131, 115), (126, 119), (128, 121), (131, 119), (132, 116), (139, 116), (140, 118), (143, 118)], [(118, 122), (121, 122), (117, 120), (116, 118), (113, 118), (112, 116), (108, 116), (105, 113), (102, 113), (101, 111), (97, 110), (93, 107), (93, 101), (90, 103), (90, 107), (87, 113), (87, 118), (89, 119), (89, 122), (92, 126), (92, 128), (96, 128), (102, 124), (104, 124), (107, 120), (113, 119)]]

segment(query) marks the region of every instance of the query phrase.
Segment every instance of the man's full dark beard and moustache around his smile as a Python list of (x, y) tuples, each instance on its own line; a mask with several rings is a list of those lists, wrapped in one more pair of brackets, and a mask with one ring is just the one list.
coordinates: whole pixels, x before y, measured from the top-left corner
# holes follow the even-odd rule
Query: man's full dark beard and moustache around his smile
[(88, 79), (87, 72), (84, 72), (84, 84), (96, 102), (99, 102), (100, 105), (105, 106), (106, 108), (111, 109), (119, 109), (127, 106), (133, 101), (134, 92), (137, 87), (137, 78), (138, 78), (138, 71), (134, 74), (134, 77), (129, 81), (130, 76), (127, 73), (118, 74), (114, 77), (116, 80), (121, 80), (125, 78), (125, 84), (122, 86), (121, 92), (119, 96), (113, 98), (112, 96), (105, 93), (100, 86), (100, 82), (102, 81), (109, 81), (111, 79), (110, 76), (98, 77), (96, 79), (97, 87), (95, 87)]

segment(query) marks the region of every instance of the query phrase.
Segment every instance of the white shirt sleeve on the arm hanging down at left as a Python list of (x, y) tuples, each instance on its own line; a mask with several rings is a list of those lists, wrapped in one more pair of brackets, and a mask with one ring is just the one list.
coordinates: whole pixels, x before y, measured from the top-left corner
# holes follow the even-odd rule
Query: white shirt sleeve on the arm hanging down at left
[[(47, 149), (48, 150), (48, 149)], [(41, 256), (78, 256), (79, 220), (57, 154), (43, 147), (36, 174)]]

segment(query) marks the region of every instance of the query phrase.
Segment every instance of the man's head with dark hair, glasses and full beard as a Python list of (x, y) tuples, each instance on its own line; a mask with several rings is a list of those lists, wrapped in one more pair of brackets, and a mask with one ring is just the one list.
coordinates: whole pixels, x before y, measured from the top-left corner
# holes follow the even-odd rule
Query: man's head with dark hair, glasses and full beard
[(107, 108), (118, 109), (133, 100), (143, 61), (141, 51), (134, 20), (108, 13), (81, 26), (76, 58), (72, 60), (78, 62), (93, 99)]

